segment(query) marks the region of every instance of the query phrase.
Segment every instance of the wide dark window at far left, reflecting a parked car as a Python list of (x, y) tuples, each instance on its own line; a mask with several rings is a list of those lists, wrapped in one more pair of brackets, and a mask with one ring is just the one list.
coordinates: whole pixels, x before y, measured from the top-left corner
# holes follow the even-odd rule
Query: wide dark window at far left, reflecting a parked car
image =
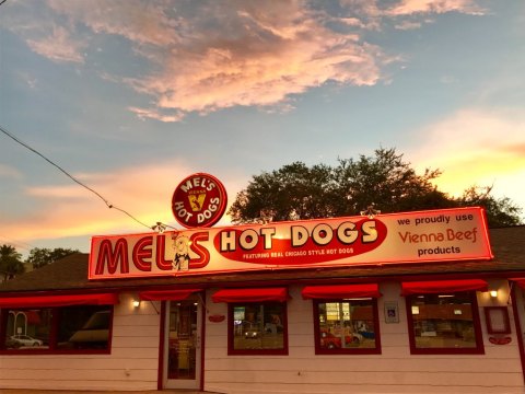
[(2, 309), (2, 351), (108, 352), (113, 306)]

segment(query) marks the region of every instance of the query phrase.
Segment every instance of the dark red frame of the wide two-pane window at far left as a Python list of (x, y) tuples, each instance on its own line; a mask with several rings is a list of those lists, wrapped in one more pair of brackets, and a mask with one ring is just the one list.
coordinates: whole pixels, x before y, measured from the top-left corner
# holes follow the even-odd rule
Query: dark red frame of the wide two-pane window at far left
[[(61, 318), (61, 310), (67, 308), (83, 308), (83, 306), (106, 306), (109, 310), (109, 325), (108, 325), (108, 337), (107, 337), (107, 348), (105, 349), (57, 349), (56, 345), (58, 341), (58, 333)], [(5, 339), (8, 331), (8, 318), (9, 311), (16, 309), (18, 311), (30, 311), (30, 310), (50, 310), (51, 320), (49, 322), (49, 344), (52, 344), (52, 347), (49, 348), (31, 348), (31, 349), (7, 349)], [(115, 308), (112, 304), (108, 305), (65, 305), (65, 306), (35, 306), (35, 308), (2, 308), (0, 309), (0, 355), (110, 355), (112, 354), (112, 339), (113, 339), (113, 322), (115, 315)]]

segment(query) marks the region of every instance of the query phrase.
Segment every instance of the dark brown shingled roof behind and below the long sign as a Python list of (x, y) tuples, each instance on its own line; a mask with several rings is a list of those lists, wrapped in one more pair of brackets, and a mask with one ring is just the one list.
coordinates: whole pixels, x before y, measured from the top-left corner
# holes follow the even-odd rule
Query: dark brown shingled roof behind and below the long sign
[(423, 264), (352, 265), (345, 268), (283, 269), (273, 271), (202, 275), (188, 277), (154, 277), (143, 279), (88, 280), (89, 255), (77, 253), (43, 268), (26, 273), (0, 285), (0, 292), (79, 291), (85, 289), (125, 290), (188, 287), (226, 287), (240, 285), (381, 281), (420, 279), (422, 277), (512, 277), (525, 276), (525, 225), (490, 229), (491, 260), (460, 260)]

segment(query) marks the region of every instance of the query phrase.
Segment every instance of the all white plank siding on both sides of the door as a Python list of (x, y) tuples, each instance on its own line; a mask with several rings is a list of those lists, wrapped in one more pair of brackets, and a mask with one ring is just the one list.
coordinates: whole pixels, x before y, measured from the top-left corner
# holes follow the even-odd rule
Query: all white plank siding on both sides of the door
[[(483, 306), (508, 305), (506, 281), (492, 281), (498, 300), (478, 293), (485, 355), (410, 355), (405, 299), (398, 282), (381, 283), (378, 301), (381, 355), (316, 356), (312, 301), (292, 286), (288, 305), (288, 356), (228, 356), (226, 321), (206, 318), (205, 390), (255, 393), (525, 393), (512, 305), (512, 341), (492, 345)], [(207, 317), (228, 314), (207, 292)], [(135, 294), (120, 294), (115, 308), (110, 355), (0, 356), (0, 389), (156, 390), (160, 304), (131, 306)], [(397, 301), (399, 323), (386, 324), (384, 302)], [(524, 316), (520, 293), (518, 311)], [(523, 325), (525, 327), (525, 324)]]

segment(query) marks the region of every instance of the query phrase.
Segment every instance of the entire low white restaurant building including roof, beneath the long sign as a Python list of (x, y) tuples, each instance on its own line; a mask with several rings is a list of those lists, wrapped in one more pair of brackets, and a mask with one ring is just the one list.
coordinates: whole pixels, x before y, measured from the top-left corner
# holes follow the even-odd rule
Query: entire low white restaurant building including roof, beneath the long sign
[(489, 239), (487, 259), (112, 280), (71, 255), (0, 287), (0, 389), (523, 393), (525, 228)]

